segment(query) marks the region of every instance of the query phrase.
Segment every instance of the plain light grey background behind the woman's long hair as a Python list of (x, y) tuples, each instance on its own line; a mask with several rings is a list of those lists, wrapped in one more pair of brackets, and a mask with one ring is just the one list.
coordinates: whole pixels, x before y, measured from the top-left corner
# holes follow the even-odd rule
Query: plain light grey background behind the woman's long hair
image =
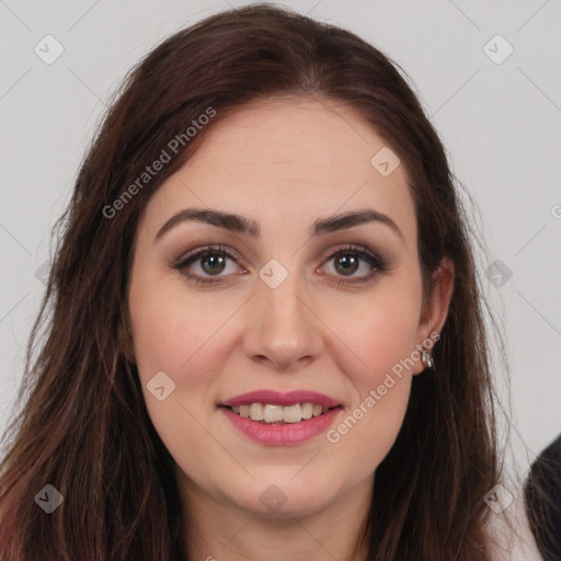
[[(45, 289), (37, 270), (50, 229), (110, 93), (172, 32), (245, 3), (0, 0), (0, 430)], [(279, 3), (354, 31), (413, 79), (479, 206), (479, 275), (504, 323), (524, 469), (561, 432), (561, 1)], [(64, 47), (50, 65), (34, 51), (47, 34)], [(496, 34), (514, 48), (504, 60), (508, 46)], [(495, 260), (502, 273), (488, 278)], [(502, 385), (504, 376), (497, 368)]]

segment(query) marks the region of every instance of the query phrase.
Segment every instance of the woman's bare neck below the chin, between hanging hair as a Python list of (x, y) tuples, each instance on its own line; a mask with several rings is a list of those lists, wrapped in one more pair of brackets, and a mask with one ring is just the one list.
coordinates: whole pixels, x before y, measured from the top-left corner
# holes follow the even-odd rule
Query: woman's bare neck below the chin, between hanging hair
[(374, 476), (307, 516), (274, 516), (217, 500), (183, 472), (179, 483), (190, 560), (366, 561), (362, 546)]

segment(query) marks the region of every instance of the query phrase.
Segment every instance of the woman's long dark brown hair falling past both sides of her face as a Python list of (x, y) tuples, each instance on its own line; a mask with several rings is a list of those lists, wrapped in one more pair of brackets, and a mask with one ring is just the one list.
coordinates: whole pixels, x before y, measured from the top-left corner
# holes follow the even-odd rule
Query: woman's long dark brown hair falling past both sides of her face
[[(347, 31), (253, 4), (175, 33), (127, 76), (58, 221), (21, 410), (4, 433), (0, 558), (186, 559), (173, 459), (126, 353), (131, 248), (149, 197), (213, 125), (232, 108), (284, 94), (360, 112), (411, 178), (425, 294), (444, 256), (455, 266), (436, 371), (414, 377), (403, 426), (376, 470), (368, 559), (489, 557), (482, 499), (499, 461), (472, 232), (443, 145), (398, 68)], [(214, 116), (191, 138), (186, 127), (209, 108)], [(170, 161), (138, 183), (162, 150)], [(34, 501), (46, 484), (64, 496), (48, 515)]]

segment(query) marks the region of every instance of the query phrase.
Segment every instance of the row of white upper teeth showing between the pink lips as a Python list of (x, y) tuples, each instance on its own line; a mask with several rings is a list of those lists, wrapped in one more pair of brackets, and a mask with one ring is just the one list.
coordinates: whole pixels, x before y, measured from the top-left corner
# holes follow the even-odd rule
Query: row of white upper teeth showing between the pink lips
[(318, 403), (295, 403), (293, 405), (278, 405), (273, 403), (248, 403), (243, 405), (219, 405), (229, 409), (241, 417), (250, 419), (265, 425), (295, 424), (325, 414), (332, 409)]

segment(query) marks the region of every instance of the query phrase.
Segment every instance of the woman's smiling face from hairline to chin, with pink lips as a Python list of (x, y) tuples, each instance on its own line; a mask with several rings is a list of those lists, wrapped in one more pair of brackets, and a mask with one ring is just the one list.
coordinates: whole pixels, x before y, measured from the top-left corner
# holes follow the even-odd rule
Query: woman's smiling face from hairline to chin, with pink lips
[[(217, 122), (139, 224), (135, 359), (187, 495), (295, 516), (365, 491), (444, 322), (447, 298), (422, 308), (404, 167), (333, 103)], [(207, 214), (169, 222), (190, 209)]]

